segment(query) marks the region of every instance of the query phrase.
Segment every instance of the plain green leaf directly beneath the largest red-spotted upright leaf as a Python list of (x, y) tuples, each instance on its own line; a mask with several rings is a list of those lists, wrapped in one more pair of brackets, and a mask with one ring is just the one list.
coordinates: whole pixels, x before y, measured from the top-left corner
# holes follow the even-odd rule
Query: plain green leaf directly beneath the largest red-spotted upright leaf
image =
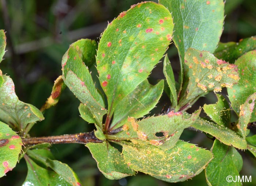
[(162, 92), (163, 80), (156, 85), (151, 85), (147, 79), (144, 80), (117, 104), (111, 127), (122, 126), (127, 121), (128, 116), (141, 118), (148, 114), (158, 103)]

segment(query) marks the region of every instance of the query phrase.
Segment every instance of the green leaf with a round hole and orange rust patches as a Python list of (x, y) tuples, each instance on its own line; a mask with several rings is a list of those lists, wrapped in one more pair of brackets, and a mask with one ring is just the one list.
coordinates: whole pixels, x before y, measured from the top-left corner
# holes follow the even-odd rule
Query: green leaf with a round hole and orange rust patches
[(118, 140), (133, 140), (134, 143), (155, 145), (161, 149), (171, 149), (187, 128), (195, 122), (200, 114), (197, 110), (193, 115), (170, 111), (166, 115), (151, 116), (140, 121), (128, 118), (123, 131), (108, 138)]

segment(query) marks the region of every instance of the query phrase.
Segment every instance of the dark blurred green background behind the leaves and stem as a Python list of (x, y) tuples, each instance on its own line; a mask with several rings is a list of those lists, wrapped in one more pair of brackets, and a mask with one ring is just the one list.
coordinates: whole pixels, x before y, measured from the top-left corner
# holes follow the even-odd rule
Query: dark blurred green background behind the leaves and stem
[[(37, 108), (44, 104), (50, 95), (54, 80), (62, 74), (61, 59), (69, 44), (90, 38), (99, 41), (100, 34), (120, 12), (130, 8), (139, 0), (1, 0), (0, 29), (7, 33), (7, 52), (1, 63), (1, 70), (14, 80), (16, 94), (23, 102)], [(222, 42), (238, 41), (256, 35), (256, 1), (226, 0), (225, 25)], [(179, 62), (177, 50), (172, 44), (168, 50), (175, 75)], [(162, 63), (153, 70), (150, 80), (155, 83), (162, 79)], [(225, 90), (224, 90), (225, 92)], [(165, 95), (152, 113), (159, 113), (166, 100)], [(204, 103), (214, 103), (215, 96), (209, 94), (199, 99), (191, 109)], [(169, 104), (169, 103), (167, 103)], [(45, 112), (45, 120), (32, 128), (31, 136), (61, 135), (93, 130), (79, 116), (79, 100), (66, 89), (60, 102)], [(202, 133), (185, 130), (181, 136), (185, 141), (211, 148), (212, 140)], [(79, 144), (53, 145), (56, 159), (67, 163), (83, 182), (84, 186), (206, 186), (204, 171), (195, 178), (182, 183), (166, 183), (148, 175), (112, 181), (106, 179), (97, 169), (89, 150)], [(241, 152), (244, 166), (241, 175), (251, 175), (251, 183), (256, 185), (256, 161), (250, 154)], [(0, 179), (1, 186), (20, 186), (26, 177), (26, 163), (22, 159), (13, 171)]]

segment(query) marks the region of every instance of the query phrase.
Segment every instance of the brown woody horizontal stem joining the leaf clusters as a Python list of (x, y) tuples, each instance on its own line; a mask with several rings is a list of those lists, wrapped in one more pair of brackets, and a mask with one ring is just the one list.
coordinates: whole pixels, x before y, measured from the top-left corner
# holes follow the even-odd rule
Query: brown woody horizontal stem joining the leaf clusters
[(46, 136), (46, 137), (33, 137), (33, 138), (24, 138), (22, 140), (25, 145), (36, 145), (39, 143), (82, 143), (86, 144), (89, 142), (93, 143), (102, 143), (101, 140), (96, 138), (94, 131), (84, 132), (79, 134), (65, 134), (60, 136)]

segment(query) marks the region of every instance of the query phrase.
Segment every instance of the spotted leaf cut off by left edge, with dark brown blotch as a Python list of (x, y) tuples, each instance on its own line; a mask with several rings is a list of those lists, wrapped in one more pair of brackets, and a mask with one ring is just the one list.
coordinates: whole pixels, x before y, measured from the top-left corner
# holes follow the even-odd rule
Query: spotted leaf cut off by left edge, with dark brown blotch
[(16, 166), (22, 145), (20, 136), (0, 122), (0, 177)]

